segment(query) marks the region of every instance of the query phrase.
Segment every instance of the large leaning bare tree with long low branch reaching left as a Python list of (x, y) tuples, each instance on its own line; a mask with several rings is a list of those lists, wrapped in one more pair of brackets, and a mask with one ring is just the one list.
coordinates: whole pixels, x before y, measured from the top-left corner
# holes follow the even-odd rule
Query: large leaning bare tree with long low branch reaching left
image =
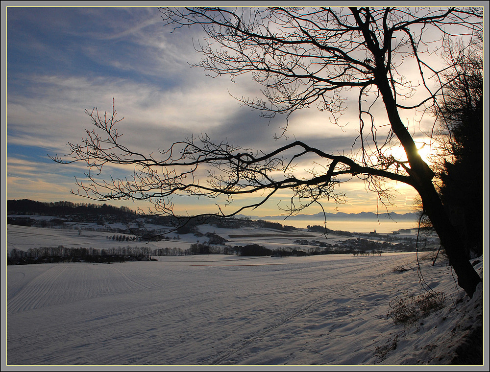
[[(94, 109), (87, 114), (102, 135), (87, 131), (81, 144), (69, 143), (73, 160), (54, 158), (60, 163), (87, 163), (88, 183), (77, 181), (77, 193), (98, 200), (147, 200), (155, 212), (170, 214), (175, 194), (225, 195), (228, 202), (237, 195), (262, 195), (259, 202), (229, 213), (235, 214), (262, 205), (279, 190), (291, 189), (294, 195), (286, 209), (294, 214), (324, 199), (342, 202), (344, 195), (336, 186), (343, 177), (363, 179), (383, 201), (391, 197), (383, 180), (402, 182), (417, 190), (459, 285), (473, 295), (481, 279), (461, 250), (461, 237), (433, 184), (434, 172), (420, 157), (400, 112), (423, 111), (436, 104), (443, 71), (431, 58), (444, 38), (469, 38), (481, 32), (482, 8), (179, 7), (160, 11), (173, 30), (202, 27), (206, 37), (197, 46), (203, 55), (197, 66), (232, 79), (250, 74), (262, 85), (265, 99), (239, 100), (266, 117), (285, 114), (288, 118), (296, 110), (316, 105), (333, 124), (340, 124), (349, 107), (348, 94), (357, 92), (360, 126), (354, 145), (359, 151), (353, 151), (353, 156), (334, 155), (292, 141), (260, 152), (213, 142), (203, 135), (176, 142), (158, 156), (145, 155), (121, 143), (117, 131), (121, 119), (114, 108), (112, 115), (103, 116)], [(404, 77), (410, 67), (418, 71), (418, 82)], [(373, 115), (379, 105), (386, 114), (383, 125)], [(284, 135), (287, 125), (283, 130)], [(406, 159), (387, 152), (392, 146), (401, 146)], [(294, 165), (304, 158), (315, 158), (317, 165), (308, 177), (296, 176)], [(108, 163), (136, 167), (131, 178), (98, 180), (92, 170), (101, 172)], [(225, 215), (221, 208), (216, 214)]]

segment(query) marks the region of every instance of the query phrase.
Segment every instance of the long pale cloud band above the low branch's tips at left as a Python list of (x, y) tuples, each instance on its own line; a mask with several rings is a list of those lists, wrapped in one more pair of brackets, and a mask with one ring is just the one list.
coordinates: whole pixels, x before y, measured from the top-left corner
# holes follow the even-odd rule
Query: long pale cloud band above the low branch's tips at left
[[(220, 125), (230, 111), (239, 109), (230, 97), (225, 95), (222, 99), (221, 89), (213, 90), (213, 86), (208, 86), (203, 99), (202, 87), (184, 94), (180, 89), (162, 91), (123, 79), (31, 75), (29, 80), (26, 92), (8, 96), (8, 127), (12, 136), (9, 140), (15, 143), (32, 143), (35, 137), (36, 142), (49, 141), (60, 147), (68, 140), (76, 140), (84, 134), (84, 128), (91, 127), (83, 110), (91, 111), (98, 106), (101, 113), (111, 112), (112, 97), (120, 117), (125, 117), (121, 125), (127, 137), (135, 140), (137, 147), (140, 139), (145, 141), (146, 148), (153, 144), (155, 149), (161, 144), (155, 134), (158, 137), (164, 132), (162, 129), (178, 131), (182, 139)], [(145, 128), (154, 132), (141, 138)]]

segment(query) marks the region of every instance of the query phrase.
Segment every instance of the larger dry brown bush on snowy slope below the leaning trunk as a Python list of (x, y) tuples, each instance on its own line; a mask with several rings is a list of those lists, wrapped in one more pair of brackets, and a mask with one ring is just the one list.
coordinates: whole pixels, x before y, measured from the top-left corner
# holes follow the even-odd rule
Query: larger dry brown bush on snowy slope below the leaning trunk
[(394, 324), (403, 324), (410, 327), (430, 313), (444, 307), (446, 298), (442, 292), (426, 292), (418, 295), (409, 294), (405, 297), (396, 296), (389, 304), (387, 317), (392, 318)]

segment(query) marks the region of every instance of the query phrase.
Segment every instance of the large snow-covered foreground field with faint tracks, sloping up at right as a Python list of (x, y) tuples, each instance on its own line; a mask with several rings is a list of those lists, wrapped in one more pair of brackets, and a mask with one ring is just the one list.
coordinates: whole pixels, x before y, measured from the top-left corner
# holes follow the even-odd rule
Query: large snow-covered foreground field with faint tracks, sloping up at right
[[(90, 232), (87, 242), (72, 231), (59, 242), (52, 229), (25, 229), (8, 231), (9, 249), (105, 238)], [(418, 255), (421, 274), (415, 253), (7, 266), (6, 363), (447, 364), (482, 317), (483, 286), (469, 300), (450, 267), (425, 256)], [(475, 267), (483, 276), (483, 263)], [(422, 293), (420, 275), (444, 292), (444, 308), (416, 326), (393, 325), (390, 301)], [(488, 371), (488, 359), (479, 368)]]

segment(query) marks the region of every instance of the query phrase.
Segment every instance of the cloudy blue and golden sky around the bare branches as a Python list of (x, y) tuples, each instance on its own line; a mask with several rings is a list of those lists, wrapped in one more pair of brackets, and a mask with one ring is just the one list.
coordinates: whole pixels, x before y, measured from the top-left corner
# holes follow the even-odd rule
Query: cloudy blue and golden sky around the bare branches
[[(255, 150), (270, 151), (297, 139), (338, 153), (350, 149), (357, 135), (355, 110), (343, 115), (345, 127), (340, 128), (325, 125), (327, 116), (311, 109), (290, 117), (288, 140), (275, 140), (286, 118), (269, 122), (230, 95), (259, 96), (260, 87), (246, 76), (233, 83), (229, 77), (211, 78), (206, 71), (191, 68), (189, 63), (200, 60), (193, 42), (202, 41), (202, 33), (197, 28), (171, 33), (155, 7), (13, 6), (6, 8), (4, 18), (7, 125), (2, 137), (9, 200), (97, 203), (70, 193), (76, 190), (75, 177), (83, 179), (87, 170), (83, 164), (61, 165), (48, 155), (65, 155), (67, 143), (79, 141), (91, 129), (85, 109), (110, 112), (113, 99), (118, 116), (124, 117), (120, 125), (124, 139), (147, 154), (201, 133)], [(417, 120), (405, 120), (417, 137)], [(392, 186), (396, 198), (389, 210), (413, 211), (415, 191), (404, 184)], [(326, 201), (325, 211), (386, 211), (377, 194), (359, 180), (343, 183), (340, 190), (347, 202)], [(284, 206), (289, 198), (282, 193), (263, 208), (244, 214), (280, 214), (277, 204)], [(216, 201), (176, 198), (174, 202), (177, 212), (196, 214), (209, 211)], [(147, 207), (130, 201), (108, 204)], [(303, 211), (317, 212), (318, 208)]]

